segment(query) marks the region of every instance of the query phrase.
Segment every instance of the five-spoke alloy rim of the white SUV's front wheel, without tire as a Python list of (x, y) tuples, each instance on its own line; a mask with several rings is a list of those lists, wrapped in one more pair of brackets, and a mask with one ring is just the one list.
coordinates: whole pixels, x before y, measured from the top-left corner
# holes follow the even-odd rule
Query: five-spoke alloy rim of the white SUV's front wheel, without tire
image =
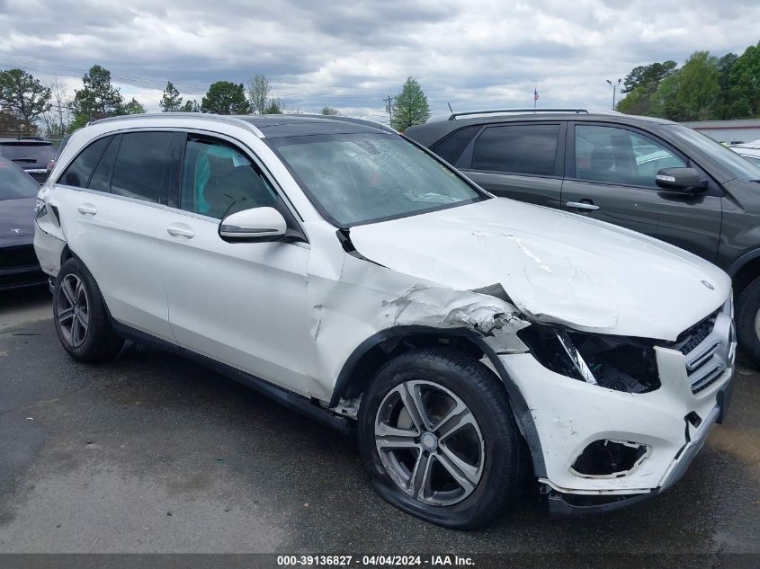
[(450, 389), (405, 381), (383, 398), (375, 444), (391, 479), (409, 496), (450, 506), (474, 492), (486, 450), (475, 415)]

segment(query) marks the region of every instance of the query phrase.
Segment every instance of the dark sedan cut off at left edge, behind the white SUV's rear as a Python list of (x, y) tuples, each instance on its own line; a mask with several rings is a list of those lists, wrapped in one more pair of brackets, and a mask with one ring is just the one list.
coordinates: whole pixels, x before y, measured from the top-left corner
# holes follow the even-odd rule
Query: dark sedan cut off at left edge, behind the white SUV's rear
[(48, 281), (34, 254), (34, 206), (40, 185), (0, 158), (0, 290)]

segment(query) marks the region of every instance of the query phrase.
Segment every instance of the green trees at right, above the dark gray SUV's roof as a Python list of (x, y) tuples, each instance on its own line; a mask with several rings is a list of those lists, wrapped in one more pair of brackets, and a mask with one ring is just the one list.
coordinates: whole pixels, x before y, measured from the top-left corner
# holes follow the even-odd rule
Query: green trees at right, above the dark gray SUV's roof
[(667, 60), (634, 67), (616, 109), (669, 120), (760, 117), (760, 42), (738, 56), (695, 51), (684, 65)]

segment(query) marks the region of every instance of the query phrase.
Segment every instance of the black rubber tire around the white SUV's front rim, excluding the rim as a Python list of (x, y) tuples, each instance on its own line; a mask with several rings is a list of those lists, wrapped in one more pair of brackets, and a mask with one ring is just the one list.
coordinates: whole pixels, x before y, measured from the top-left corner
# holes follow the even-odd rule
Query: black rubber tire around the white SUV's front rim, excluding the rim
[[(386, 400), (383, 408), (389, 408), (386, 396), (395, 395), (395, 389), (401, 384), (410, 385), (405, 383), (410, 380), (432, 382), (450, 390), (467, 405), (477, 421), (482, 439), (476, 444), (485, 451), (485, 456), (481, 458), (481, 474), (475, 489), (470, 490), (471, 493), (460, 502), (431, 505), (417, 499), (409, 494), (415, 491), (410, 490), (408, 485), (405, 491), (394, 482), (380, 458), (375, 436), (380, 405)], [(359, 411), (362, 464), (380, 496), (417, 518), (452, 529), (484, 526), (505, 511), (520, 490), (525, 457), (504, 386), (500, 384), (499, 378), (490, 369), (475, 358), (456, 351), (438, 348), (407, 351), (385, 363), (364, 392)], [(438, 435), (438, 432), (435, 434)], [(443, 440), (438, 441), (442, 447)], [(436, 458), (433, 455), (440, 456), (441, 450), (436, 448), (425, 456), (431, 456), (430, 460), (433, 461)], [(419, 459), (416, 451), (411, 456)], [(407, 468), (410, 485), (414, 478), (411, 470), (411, 467)]]

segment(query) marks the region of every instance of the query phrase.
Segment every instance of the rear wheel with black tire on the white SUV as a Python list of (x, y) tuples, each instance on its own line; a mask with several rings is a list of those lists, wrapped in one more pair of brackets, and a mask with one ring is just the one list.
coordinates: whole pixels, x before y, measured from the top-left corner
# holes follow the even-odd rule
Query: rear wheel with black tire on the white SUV
[[(67, 307), (72, 305), (71, 292), (72, 289), (76, 289), (71, 286), (73, 283), (82, 285), (78, 292), (74, 290), (74, 296), (78, 298), (74, 304), (76, 314), (84, 316), (61, 318), (59, 315), (67, 314)], [(67, 287), (67, 291), (63, 289), (64, 287)], [(85, 309), (82, 306), (85, 306)], [(80, 320), (75, 323), (77, 317), (86, 321), (86, 329), (83, 324), (80, 324)], [(56, 325), (58, 340), (64, 350), (75, 360), (87, 362), (110, 360), (121, 351), (124, 345), (124, 339), (113, 331), (97, 283), (85, 265), (76, 258), (68, 259), (58, 271), (56, 286), (53, 289), (53, 321)], [(73, 327), (75, 325), (76, 331)], [(82, 333), (82, 330), (85, 332)]]

